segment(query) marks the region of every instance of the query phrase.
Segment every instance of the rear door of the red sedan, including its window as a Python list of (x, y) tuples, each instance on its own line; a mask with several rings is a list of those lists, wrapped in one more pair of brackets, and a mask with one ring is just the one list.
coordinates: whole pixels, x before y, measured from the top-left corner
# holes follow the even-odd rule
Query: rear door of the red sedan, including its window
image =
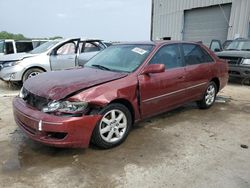
[(186, 65), (187, 97), (199, 99), (205, 92), (212, 75), (212, 57), (198, 44), (182, 44)]

